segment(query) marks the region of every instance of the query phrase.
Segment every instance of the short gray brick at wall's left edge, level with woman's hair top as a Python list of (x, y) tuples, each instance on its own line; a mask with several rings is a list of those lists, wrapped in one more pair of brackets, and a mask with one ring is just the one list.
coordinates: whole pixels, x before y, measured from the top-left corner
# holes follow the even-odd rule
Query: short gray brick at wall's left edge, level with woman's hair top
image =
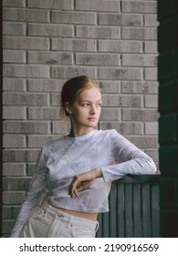
[(3, 89), (4, 91), (26, 91), (26, 80), (4, 78)]

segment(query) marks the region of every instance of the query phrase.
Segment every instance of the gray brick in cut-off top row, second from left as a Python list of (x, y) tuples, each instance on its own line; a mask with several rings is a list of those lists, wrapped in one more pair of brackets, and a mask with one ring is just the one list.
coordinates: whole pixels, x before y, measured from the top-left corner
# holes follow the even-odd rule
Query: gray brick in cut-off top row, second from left
[(72, 10), (73, 0), (30, 0), (27, 2), (27, 6), (30, 8), (43, 8), (43, 9), (59, 9), (59, 10)]

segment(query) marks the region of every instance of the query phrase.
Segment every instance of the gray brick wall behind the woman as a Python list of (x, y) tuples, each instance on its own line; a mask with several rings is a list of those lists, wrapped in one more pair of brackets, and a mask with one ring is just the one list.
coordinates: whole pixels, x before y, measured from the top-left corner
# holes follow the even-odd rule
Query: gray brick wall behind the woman
[(68, 132), (65, 80), (103, 90), (99, 128), (115, 128), (158, 163), (157, 1), (4, 0), (3, 234), (8, 236), (40, 147)]

